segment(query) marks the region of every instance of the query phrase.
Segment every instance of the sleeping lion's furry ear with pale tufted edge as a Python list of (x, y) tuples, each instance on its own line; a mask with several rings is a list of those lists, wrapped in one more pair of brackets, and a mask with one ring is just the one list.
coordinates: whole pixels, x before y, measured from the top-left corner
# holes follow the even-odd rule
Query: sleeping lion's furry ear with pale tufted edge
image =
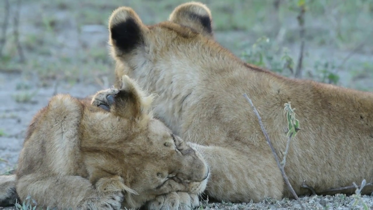
[(115, 102), (111, 106), (110, 112), (137, 121), (152, 117), (150, 108), (154, 95), (147, 95), (138, 87), (136, 81), (127, 75), (123, 75), (121, 80), (120, 90), (115, 96)]

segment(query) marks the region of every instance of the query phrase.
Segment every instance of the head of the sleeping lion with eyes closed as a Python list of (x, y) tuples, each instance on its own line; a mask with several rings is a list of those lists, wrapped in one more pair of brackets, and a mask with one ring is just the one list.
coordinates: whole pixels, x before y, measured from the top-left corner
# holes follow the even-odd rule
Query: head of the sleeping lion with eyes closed
[[(153, 118), (152, 100), (153, 95), (124, 75), (119, 89), (101, 90), (92, 99), (92, 105), (109, 114), (109, 120), (101, 117), (101, 127), (96, 129), (100, 133), (94, 129), (83, 133), (82, 150), (91, 182), (122, 176), (130, 192), (124, 199), (128, 207), (174, 191), (200, 194), (209, 175), (198, 151)], [(91, 123), (97, 125), (91, 118), (83, 126)]]

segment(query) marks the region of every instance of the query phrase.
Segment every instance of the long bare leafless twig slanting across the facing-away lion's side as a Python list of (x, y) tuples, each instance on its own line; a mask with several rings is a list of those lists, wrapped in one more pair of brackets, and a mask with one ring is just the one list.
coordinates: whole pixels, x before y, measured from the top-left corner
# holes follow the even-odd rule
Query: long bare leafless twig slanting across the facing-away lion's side
[(279, 169), (280, 169), (280, 171), (281, 171), (282, 177), (283, 177), (283, 179), (285, 180), (286, 185), (288, 185), (289, 190), (290, 190), (291, 193), (293, 194), (294, 198), (298, 201), (298, 203), (299, 203), (301, 209), (304, 209), (304, 206), (303, 206), (301, 200), (298, 198), (298, 195), (295, 193), (293, 187), (291, 186), (291, 184), (290, 184), (290, 182), (289, 182), (288, 176), (286, 176), (285, 171), (284, 171), (283, 167), (282, 167), (281, 164), (280, 164), (280, 161), (279, 161), (279, 158), (278, 158), (278, 156), (277, 156), (277, 154), (276, 154), (275, 148), (273, 148), (273, 145), (272, 145), (272, 143), (271, 143), (271, 140), (269, 139), (268, 133), (266, 132), (266, 129), (264, 129), (263, 122), (261, 121), (261, 117), (260, 117), (260, 115), (259, 115), (257, 109), (255, 108), (255, 106), (254, 106), (253, 102), (251, 101), (251, 99), (246, 95), (246, 93), (244, 94), (244, 97), (245, 97), (245, 99), (250, 103), (251, 108), (253, 108), (254, 113), (256, 114), (256, 116), (257, 116), (257, 118), (258, 118), (260, 128), (261, 128), (261, 130), (262, 130), (264, 136), (266, 137), (267, 143), (269, 144), (269, 146), (270, 146), (270, 148), (271, 148), (271, 150), (272, 150), (273, 156), (275, 156), (275, 160), (276, 160), (276, 162), (277, 162), (277, 166), (279, 167)]

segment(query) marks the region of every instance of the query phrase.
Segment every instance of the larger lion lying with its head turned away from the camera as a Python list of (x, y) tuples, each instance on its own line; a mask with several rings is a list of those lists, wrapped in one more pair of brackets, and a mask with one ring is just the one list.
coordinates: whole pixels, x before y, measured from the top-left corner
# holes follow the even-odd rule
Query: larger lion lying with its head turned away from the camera
[(285, 172), (298, 195), (310, 193), (301, 188), (304, 180), (316, 192), (373, 181), (372, 93), (246, 64), (213, 40), (211, 22), (201, 3), (181, 4), (156, 25), (144, 25), (129, 7), (117, 8), (109, 20), (117, 77), (127, 74), (159, 95), (154, 114), (182, 139), (200, 142), (211, 172), (207, 195), (232, 202), (291, 197), (244, 93), (281, 159), (284, 104), (297, 108), (302, 130), (291, 142)]

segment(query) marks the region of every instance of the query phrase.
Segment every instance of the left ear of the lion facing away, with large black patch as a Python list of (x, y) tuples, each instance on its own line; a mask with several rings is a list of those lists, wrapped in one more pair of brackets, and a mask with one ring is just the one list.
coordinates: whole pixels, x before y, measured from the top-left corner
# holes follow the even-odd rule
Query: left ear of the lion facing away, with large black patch
[(115, 56), (130, 53), (144, 44), (148, 28), (142, 24), (137, 13), (130, 7), (118, 7), (109, 18), (109, 43)]

